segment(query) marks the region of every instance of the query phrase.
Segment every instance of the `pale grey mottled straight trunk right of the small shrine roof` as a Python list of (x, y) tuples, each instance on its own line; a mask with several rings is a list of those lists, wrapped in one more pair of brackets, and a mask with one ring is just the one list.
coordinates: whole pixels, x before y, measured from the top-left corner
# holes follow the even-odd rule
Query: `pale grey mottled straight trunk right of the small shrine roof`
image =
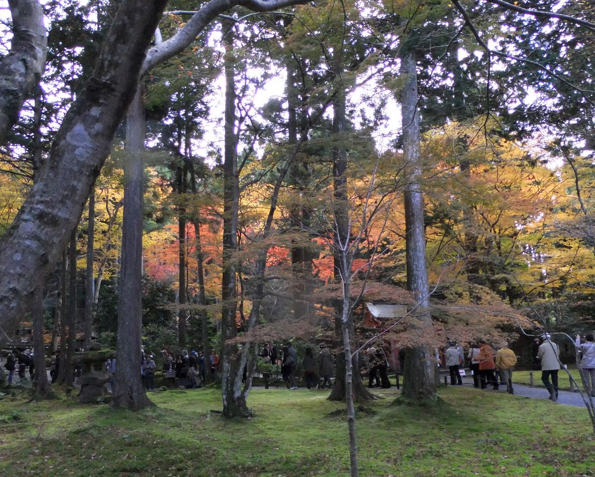
[[(421, 321), (422, 327), (431, 328), (428, 273), (425, 265), (424, 195), (421, 188), (417, 68), (414, 52), (407, 52), (401, 58), (401, 74), (406, 75), (406, 83), (401, 94), (401, 116), (403, 156), (408, 175), (408, 184), (403, 193), (407, 288), (414, 293), (417, 302), (421, 303), (417, 318)], [(420, 332), (423, 332), (423, 329)], [(435, 400), (435, 369), (431, 346), (409, 348), (405, 355), (402, 396), (415, 401)]]

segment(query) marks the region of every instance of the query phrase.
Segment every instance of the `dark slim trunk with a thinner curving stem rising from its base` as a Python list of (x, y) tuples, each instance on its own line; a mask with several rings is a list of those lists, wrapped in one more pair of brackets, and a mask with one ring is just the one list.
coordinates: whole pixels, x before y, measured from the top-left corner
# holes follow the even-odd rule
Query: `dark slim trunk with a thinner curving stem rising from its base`
[(246, 398), (237, 393), (236, 376), (240, 369), (237, 344), (228, 340), (237, 336), (236, 324), (236, 252), (237, 252), (237, 216), (240, 199), (239, 177), (237, 172), (237, 134), (236, 128), (236, 91), (235, 91), (235, 55), (231, 23), (226, 21), (223, 31), (226, 52), (225, 64), (225, 148), (223, 162), (223, 283), (221, 288), (221, 341), (223, 342), (223, 371), (221, 388), (223, 391), (223, 415), (247, 417), (250, 410)]

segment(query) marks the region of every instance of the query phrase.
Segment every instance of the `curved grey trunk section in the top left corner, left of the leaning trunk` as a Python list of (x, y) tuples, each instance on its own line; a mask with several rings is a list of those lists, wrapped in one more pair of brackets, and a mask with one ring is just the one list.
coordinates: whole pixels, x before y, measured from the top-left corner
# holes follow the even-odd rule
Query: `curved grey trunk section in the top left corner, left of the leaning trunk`
[(48, 38), (37, 0), (8, 0), (12, 39), (0, 60), (0, 143), (17, 122), (18, 113), (45, 68)]

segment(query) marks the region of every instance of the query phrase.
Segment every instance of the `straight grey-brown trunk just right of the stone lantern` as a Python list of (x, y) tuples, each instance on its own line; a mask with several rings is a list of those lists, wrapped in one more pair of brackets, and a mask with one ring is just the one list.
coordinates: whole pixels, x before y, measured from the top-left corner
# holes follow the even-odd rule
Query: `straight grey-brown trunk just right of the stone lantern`
[(137, 410), (152, 405), (140, 377), (142, 340), (143, 161), (145, 118), (139, 85), (126, 117), (124, 219), (118, 296), (115, 390), (110, 405)]

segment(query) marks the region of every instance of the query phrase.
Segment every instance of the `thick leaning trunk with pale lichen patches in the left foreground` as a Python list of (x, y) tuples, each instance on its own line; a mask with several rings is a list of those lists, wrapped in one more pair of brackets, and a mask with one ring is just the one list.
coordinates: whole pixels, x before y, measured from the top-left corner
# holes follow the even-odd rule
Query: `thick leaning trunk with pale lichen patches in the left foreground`
[(66, 114), (39, 180), (2, 237), (0, 336), (15, 329), (27, 298), (55, 266), (76, 227), (134, 95), (165, 3), (122, 2), (95, 71)]

